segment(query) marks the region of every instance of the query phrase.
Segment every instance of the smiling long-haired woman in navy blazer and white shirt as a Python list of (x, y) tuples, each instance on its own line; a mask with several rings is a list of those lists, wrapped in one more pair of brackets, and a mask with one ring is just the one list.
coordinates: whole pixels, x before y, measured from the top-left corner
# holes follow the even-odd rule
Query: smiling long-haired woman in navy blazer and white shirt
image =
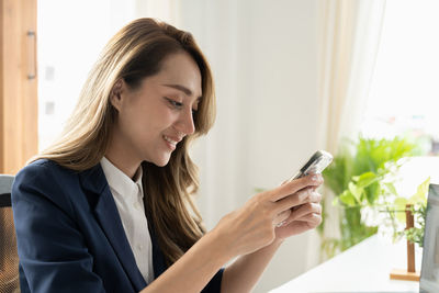
[(188, 148), (214, 116), (191, 34), (151, 19), (123, 27), (60, 139), (15, 178), (22, 292), (250, 291), (286, 237), (320, 223), (323, 180), (256, 194), (207, 233)]

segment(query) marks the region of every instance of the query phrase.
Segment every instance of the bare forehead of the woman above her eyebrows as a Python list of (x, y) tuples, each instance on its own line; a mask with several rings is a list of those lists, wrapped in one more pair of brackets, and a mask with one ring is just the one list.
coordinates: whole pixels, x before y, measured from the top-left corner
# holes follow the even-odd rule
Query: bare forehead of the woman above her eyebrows
[(191, 91), (192, 95), (202, 95), (200, 68), (188, 53), (169, 55), (162, 61), (160, 71), (150, 77), (154, 83), (178, 84)]

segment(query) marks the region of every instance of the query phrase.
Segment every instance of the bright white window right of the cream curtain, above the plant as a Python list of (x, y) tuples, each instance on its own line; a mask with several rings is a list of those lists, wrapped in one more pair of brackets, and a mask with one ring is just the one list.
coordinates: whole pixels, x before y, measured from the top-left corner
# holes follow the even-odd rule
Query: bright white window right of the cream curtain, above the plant
[(439, 2), (387, 0), (362, 133), (408, 134), (439, 153)]

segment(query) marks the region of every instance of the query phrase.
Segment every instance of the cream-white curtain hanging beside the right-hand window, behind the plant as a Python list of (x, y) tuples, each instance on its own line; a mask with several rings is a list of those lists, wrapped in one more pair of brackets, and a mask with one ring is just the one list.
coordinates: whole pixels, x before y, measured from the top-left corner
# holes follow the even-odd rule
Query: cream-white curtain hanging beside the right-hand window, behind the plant
[[(319, 4), (318, 139), (322, 148), (336, 155), (342, 138), (356, 138), (360, 129), (385, 0), (320, 0)], [(334, 194), (324, 193), (328, 215), (325, 235), (338, 237)]]

